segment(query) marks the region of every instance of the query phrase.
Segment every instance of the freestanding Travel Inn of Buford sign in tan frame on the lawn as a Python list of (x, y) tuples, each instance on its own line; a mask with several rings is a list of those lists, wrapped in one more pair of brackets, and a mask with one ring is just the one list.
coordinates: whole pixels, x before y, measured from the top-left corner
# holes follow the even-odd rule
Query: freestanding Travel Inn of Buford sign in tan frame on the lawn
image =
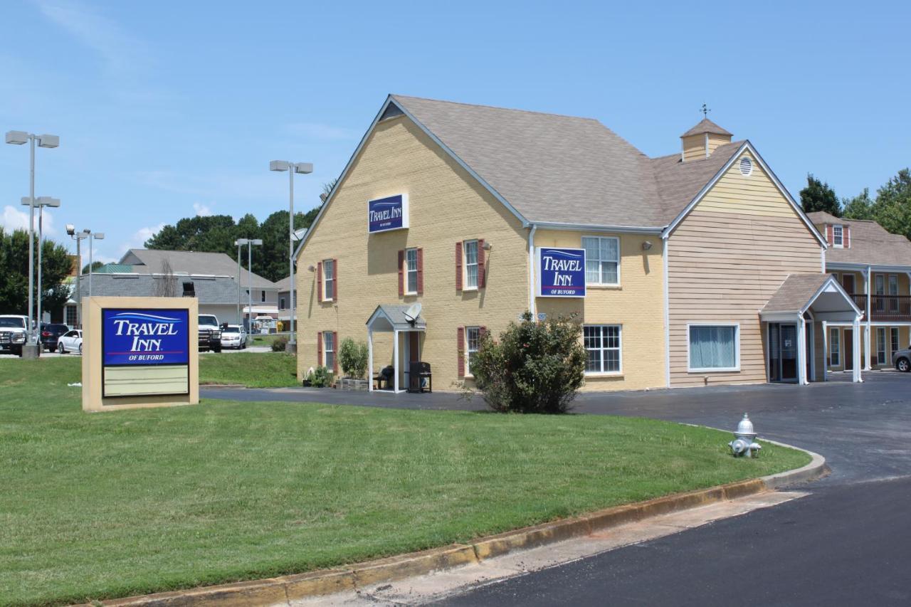
[(195, 298), (90, 297), (83, 309), (83, 409), (200, 402)]

